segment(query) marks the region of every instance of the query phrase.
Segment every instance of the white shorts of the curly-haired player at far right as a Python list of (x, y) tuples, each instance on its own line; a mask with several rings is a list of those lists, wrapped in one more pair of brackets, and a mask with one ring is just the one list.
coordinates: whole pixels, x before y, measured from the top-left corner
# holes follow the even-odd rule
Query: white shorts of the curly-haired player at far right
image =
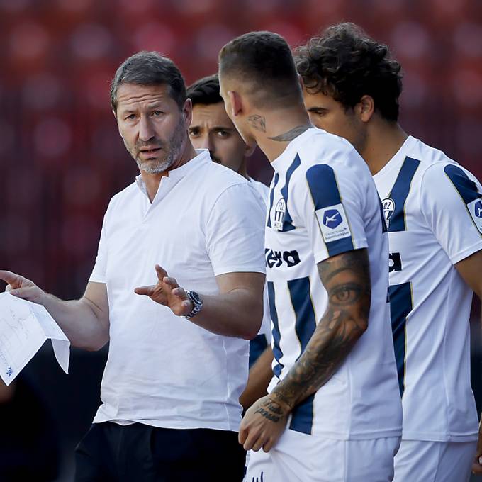
[(394, 482), (469, 481), (477, 442), (402, 440)]

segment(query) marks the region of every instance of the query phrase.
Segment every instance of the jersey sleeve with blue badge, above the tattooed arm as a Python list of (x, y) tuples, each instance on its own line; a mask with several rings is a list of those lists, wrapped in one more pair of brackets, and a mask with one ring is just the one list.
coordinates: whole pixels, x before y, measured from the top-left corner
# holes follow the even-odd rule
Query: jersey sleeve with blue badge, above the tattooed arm
[(366, 247), (361, 198), (354, 174), (315, 164), (305, 174), (303, 217), (315, 262)]

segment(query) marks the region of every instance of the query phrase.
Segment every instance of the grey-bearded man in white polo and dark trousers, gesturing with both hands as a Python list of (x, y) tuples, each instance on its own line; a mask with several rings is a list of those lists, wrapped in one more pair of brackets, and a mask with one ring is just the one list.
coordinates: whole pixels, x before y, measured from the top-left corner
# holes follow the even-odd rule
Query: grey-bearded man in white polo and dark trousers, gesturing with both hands
[[(248, 342), (262, 320), (264, 213), (242, 176), (195, 151), (181, 72), (156, 52), (118, 68), (111, 103), (140, 175), (113, 196), (84, 296), (0, 271), (72, 345), (110, 341), (77, 482), (242, 481)], [(113, 173), (115, 174), (115, 173)]]

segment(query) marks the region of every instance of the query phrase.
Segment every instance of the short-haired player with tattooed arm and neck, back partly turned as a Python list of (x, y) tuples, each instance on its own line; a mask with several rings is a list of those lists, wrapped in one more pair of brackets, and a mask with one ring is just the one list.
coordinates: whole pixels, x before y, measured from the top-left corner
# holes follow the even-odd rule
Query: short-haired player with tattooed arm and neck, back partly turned
[(369, 169), (310, 124), (284, 38), (232, 40), (219, 76), (228, 116), (275, 171), (265, 234), (274, 379), (240, 427), (254, 451), (247, 481), (391, 481), (401, 403)]

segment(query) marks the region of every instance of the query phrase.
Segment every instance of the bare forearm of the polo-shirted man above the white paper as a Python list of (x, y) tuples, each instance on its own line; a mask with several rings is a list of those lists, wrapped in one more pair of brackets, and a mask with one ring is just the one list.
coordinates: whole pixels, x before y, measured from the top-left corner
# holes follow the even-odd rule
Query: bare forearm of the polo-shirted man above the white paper
[(65, 301), (45, 293), (40, 304), (62, 328), (72, 346), (97, 350), (108, 342), (108, 319), (88, 298)]

